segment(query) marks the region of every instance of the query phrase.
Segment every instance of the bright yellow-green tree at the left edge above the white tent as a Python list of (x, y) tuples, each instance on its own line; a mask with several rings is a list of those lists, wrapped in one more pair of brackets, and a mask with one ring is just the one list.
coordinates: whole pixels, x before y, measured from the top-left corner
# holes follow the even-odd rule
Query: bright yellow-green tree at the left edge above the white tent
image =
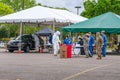
[(13, 10), (11, 9), (11, 7), (0, 2), (0, 15), (3, 16), (10, 13), (13, 13)]

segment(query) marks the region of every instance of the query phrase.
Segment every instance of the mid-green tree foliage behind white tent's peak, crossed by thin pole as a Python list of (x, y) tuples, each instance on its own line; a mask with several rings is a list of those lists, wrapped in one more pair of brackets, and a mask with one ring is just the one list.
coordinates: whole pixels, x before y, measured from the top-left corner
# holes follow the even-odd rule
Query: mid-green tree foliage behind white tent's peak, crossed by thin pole
[(26, 9), (36, 5), (35, 0), (0, 0), (0, 2), (10, 5), (15, 12), (22, 10), (23, 6)]

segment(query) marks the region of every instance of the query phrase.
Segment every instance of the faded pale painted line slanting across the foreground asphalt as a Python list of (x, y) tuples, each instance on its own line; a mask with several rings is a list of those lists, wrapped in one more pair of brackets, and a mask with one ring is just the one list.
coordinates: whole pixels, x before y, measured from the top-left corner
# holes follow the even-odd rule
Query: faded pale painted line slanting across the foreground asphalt
[(90, 69), (87, 69), (87, 70), (85, 70), (85, 71), (82, 71), (82, 72), (73, 74), (73, 75), (71, 75), (71, 76), (69, 76), (69, 77), (66, 77), (66, 78), (62, 79), (62, 80), (69, 80), (69, 79), (72, 79), (72, 78), (74, 78), (74, 77), (77, 77), (77, 76), (80, 76), (80, 75), (82, 75), (82, 74), (85, 74), (85, 73), (87, 73), (87, 72), (90, 72), (90, 71), (93, 71), (93, 70), (96, 70), (96, 69), (99, 69), (99, 68), (103, 68), (103, 67), (106, 67), (106, 66), (110, 66), (110, 65), (113, 65), (113, 64), (108, 64), (108, 65), (103, 65), (103, 66), (98, 66), (98, 67), (90, 68)]

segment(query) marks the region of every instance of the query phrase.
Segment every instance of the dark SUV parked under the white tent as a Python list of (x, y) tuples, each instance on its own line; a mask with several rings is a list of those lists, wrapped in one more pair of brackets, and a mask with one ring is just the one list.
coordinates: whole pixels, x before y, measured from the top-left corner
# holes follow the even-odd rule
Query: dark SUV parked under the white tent
[[(44, 41), (40, 38), (40, 46), (43, 48)], [(21, 39), (21, 41), (20, 41)], [(21, 42), (21, 43), (20, 43)], [(21, 50), (24, 52), (29, 52), (30, 50), (35, 50), (35, 40), (32, 35), (22, 35), (22, 37), (18, 36), (14, 40), (10, 40), (7, 43), (7, 48), (9, 52), (14, 52), (15, 50), (18, 50), (18, 45), (21, 44)]]

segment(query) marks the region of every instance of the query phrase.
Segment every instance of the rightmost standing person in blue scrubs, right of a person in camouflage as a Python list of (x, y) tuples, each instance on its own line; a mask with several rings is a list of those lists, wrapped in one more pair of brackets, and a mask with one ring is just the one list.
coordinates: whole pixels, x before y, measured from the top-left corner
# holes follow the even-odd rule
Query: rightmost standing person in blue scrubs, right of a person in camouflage
[(101, 32), (103, 38), (103, 47), (102, 47), (102, 56), (106, 56), (106, 47), (107, 47), (107, 37), (105, 35), (105, 31)]

